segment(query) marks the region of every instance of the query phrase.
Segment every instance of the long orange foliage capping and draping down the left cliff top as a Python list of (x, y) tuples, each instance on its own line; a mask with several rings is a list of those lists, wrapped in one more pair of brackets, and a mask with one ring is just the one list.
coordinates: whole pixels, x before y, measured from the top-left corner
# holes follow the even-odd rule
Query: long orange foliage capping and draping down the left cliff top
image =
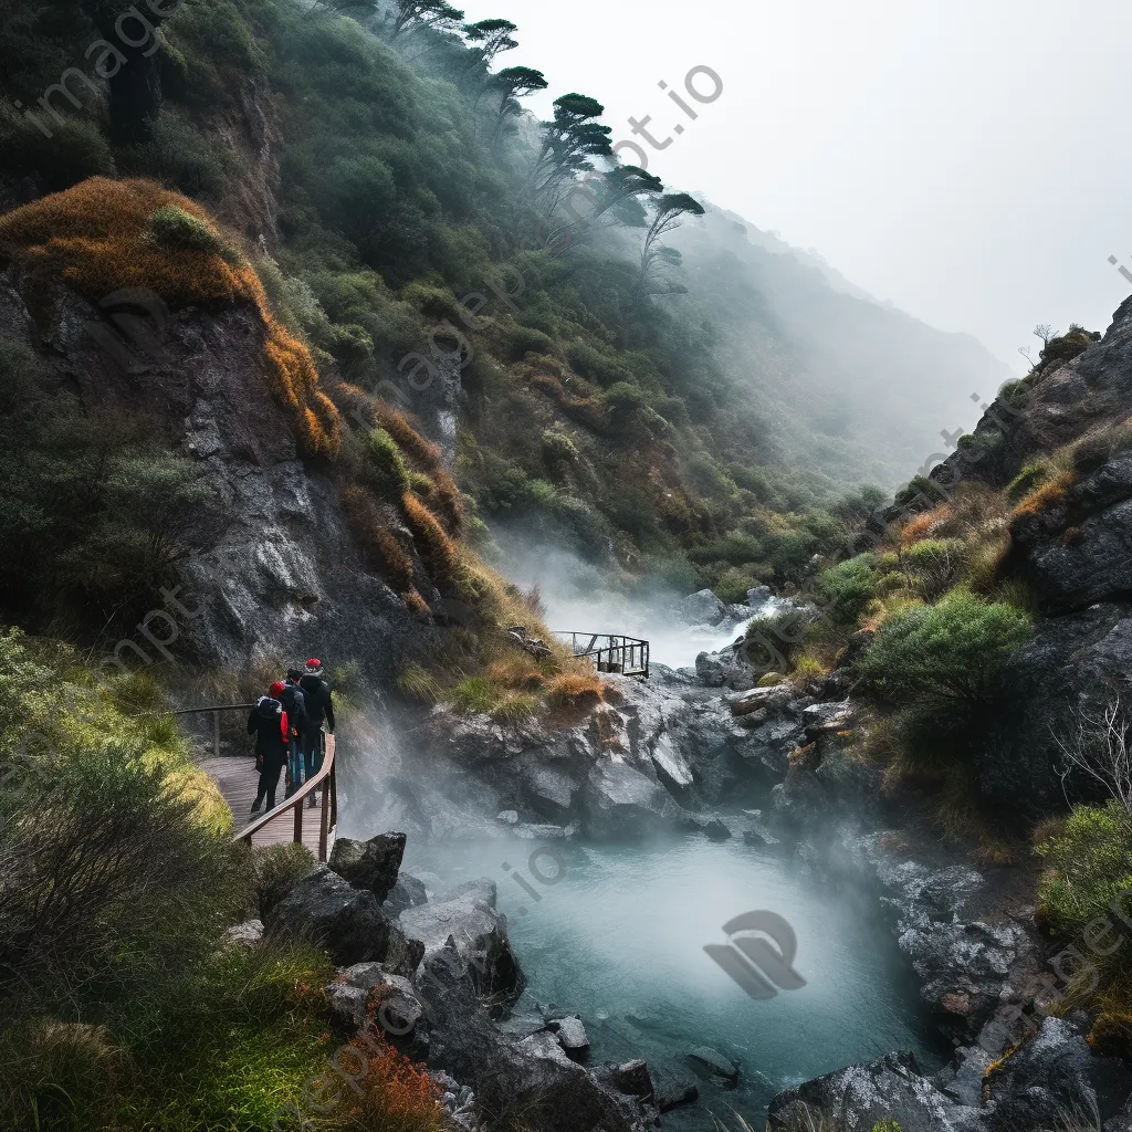
[(95, 177), (65, 192), (0, 217), (0, 257), (18, 260), (36, 277), (57, 276), (94, 302), (122, 288), (148, 289), (171, 307), (221, 301), (251, 303), (264, 324), (267, 383), (286, 408), (303, 449), (335, 456), (342, 420), (318, 389), (307, 348), (272, 316), (250, 264), (229, 263), (218, 251), (171, 248), (151, 238), (158, 208), (180, 208), (221, 241), (208, 214), (155, 181)]

